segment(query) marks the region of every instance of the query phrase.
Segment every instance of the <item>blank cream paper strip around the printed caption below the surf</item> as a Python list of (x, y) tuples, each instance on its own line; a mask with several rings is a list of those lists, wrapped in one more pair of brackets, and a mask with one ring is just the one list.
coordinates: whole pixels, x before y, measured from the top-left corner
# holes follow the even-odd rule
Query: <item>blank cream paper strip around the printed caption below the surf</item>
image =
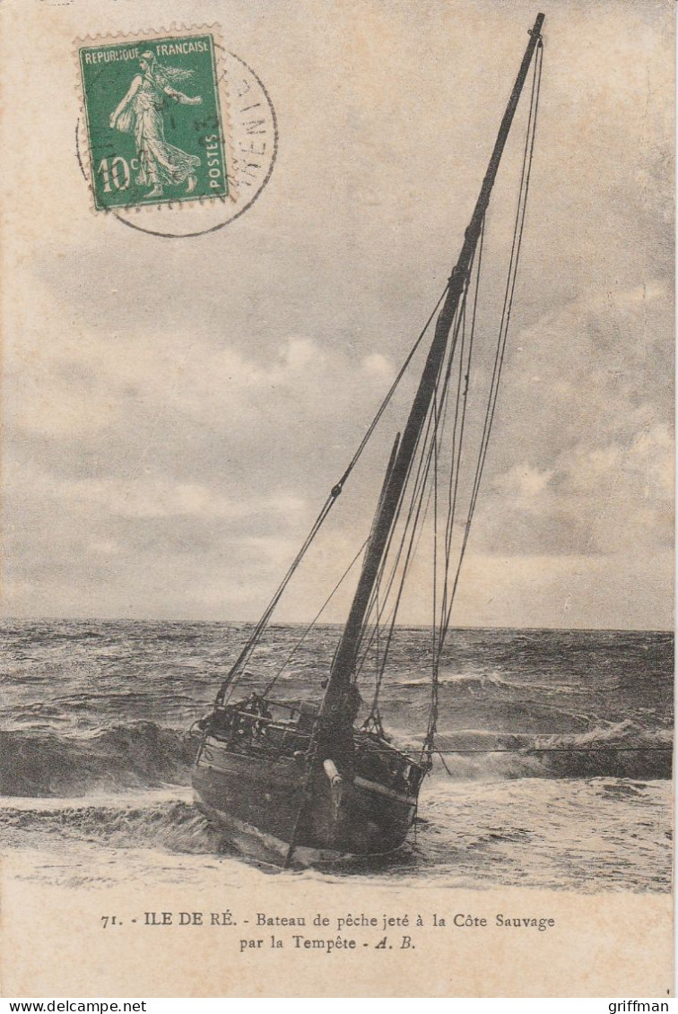
[[(303, 876), (253, 885), (245, 872), (242, 884), (218, 887), (218, 862), (206, 888), (168, 882), (142, 892), (135, 884), (91, 887), (86, 880), (76, 889), (47, 886), (32, 881), (31, 869), (29, 854), (2, 859), (0, 988), (8, 997), (663, 997), (672, 991), (666, 894), (465, 891)], [(181, 912), (215, 910), (231, 911), (239, 926), (131, 923), (150, 911), (176, 920)], [(240, 920), (258, 912), (311, 919), (320, 913), (331, 921), (346, 913), (406, 914), (411, 921), (420, 913), (425, 926), (406, 928), (411, 946), (379, 959), (371, 947), (327, 954), (288, 945), (280, 953), (241, 954)], [(491, 922), (500, 912), (552, 918), (555, 926), (544, 933), (499, 931)], [(490, 926), (433, 928), (433, 913), (447, 920), (482, 916)], [(117, 914), (122, 925), (101, 930), (107, 914)], [(356, 940), (361, 946), (362, 931)]]

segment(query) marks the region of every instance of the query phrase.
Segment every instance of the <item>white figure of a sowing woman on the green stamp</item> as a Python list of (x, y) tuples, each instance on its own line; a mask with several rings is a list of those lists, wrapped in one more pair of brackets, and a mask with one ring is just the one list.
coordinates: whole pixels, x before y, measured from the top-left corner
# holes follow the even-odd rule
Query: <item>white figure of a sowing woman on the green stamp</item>
[(142, 53), (139, 60), (141, 74), (132, 81), (127, 94), (111, 114), (111, 127), (123, 133), (134, 131), (134, 141), (139, 156), (139, 173), (136, 183), (151, 186), (147, 197), (160, 197), (164, 184), (182, 184), (188, 179), (186, 193), (195, 190), (196, 168), (200, 165), (197, 155), (190, 155), (164, 139), (162, 110), (167, 97), (182, 105), (199, 105), (202, 97), (190, 98), (174, 87), (179, 81), (193, 76), (193, 71), (159, 64), (153, 53)]

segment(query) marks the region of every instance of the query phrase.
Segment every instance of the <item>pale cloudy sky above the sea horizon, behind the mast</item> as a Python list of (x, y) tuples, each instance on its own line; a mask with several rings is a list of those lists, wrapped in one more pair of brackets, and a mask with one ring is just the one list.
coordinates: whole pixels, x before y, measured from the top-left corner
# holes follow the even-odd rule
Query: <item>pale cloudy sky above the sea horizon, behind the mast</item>
[[(537, 13), (522, 0), (176, 6), (5, 6), (6, 31), (31, 41), (3, 68), (10, 615), (259, 614), (455, 263)], [(455, 620), (663, 628), (673, 6), (545, 13), (517, 306)], [(90, 210), (73, 51), (177, 19), (218, 22), (256, 69), (279, 152), (240, 219), (170, 240)], [(519, 141), (488, 219), (488, 290)], [(279, 619), (312, 615), (364, 537), (391, 432)]]

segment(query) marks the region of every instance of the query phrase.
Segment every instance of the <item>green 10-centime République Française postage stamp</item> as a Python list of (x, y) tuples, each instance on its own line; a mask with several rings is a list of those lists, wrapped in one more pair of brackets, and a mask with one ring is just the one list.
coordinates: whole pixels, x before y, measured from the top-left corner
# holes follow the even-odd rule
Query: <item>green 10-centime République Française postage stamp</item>
[(97, 211), (229, 196), (210, 32), (78, 47)]

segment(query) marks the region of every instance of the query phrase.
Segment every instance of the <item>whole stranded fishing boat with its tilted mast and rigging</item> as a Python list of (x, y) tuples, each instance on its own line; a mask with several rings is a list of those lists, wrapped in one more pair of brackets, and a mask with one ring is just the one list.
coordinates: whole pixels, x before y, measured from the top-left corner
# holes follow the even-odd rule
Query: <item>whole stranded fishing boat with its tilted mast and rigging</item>
[[(530, 41), (461, 252), (438, 303), (348, 467), (332, 487), (299, 552), (229, 667), (213, 710), (197, 723), (201, 733), (193, 771), (197, 803), (219, 822), (234, 847), (257, 859), (289, 866), (388, 854), (400, 849), (414, 823), (419, 790), (436, 748), (439, 660), (477, 502), (504, 359), (532, 168), (543, 20), (544, 15), (539, 14), (529, 32)], [(479, 403), (481, 411), (475, 411), (480, 425), (471, 452), (470, 399), (476, 390), (472, 382), (474, 336), (486, 216), (531, 68), (531, 98), (503, 310), (493, 338), (493, 368), (480, 371), (491, 379)], [(527, 94), (528, 89), (525, 91)], [(426, 336), (431, 332), (409, 415), (395, 435), (371, 528), (355, 558), (360, 572), (348, 617), (332, 663), (317, 673), (317, 698), (287, 700), (276, 692), (278, 675), (288, 659), (282, 660), (280, 672), (272, 679), (262, 679), (260, 689), (244, 694), (244, 677), (252, 685), (248, 667), (256, 658), (274, 609), (336, 506), (420, 347), (424, 357)], [(449, 446), (444, 450), (446, 439)], [(462, 505), (460, 489), (467, 473), (471, 477), (469, 494)], [(426, 520), (432, 525), (428, 542), (432, 545), (433, 559), (431, 651), (426, 660), (431, 696), (423, 742), (415, 751), (398, 745), (387, 733), (380, 694), (388, 679), (389, 653), (403, 588)], [(371, 657), (374, 661), (375, 643), (380, 638), (371, 706), (367, 708), (360, 680), (365, 659)]]

